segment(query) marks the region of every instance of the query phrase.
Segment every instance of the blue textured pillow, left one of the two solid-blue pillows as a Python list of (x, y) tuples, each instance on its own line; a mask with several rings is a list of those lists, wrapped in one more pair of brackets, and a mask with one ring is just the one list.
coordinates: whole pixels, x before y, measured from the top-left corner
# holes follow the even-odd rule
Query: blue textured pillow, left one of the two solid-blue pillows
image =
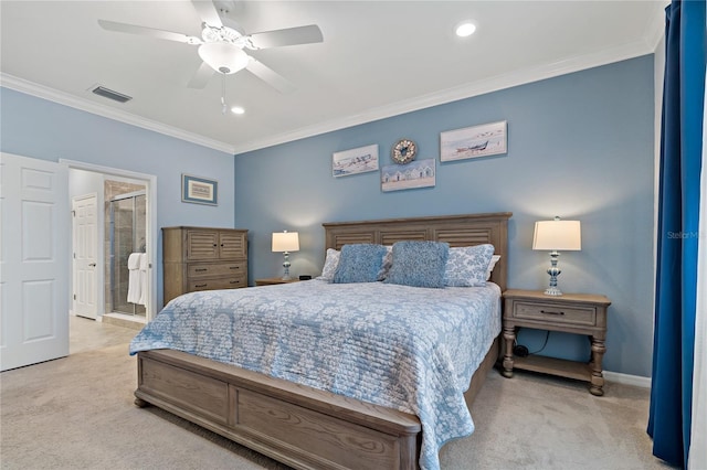
[(384, 255), (383, 245), (344, 245), (339, 266), (334, 274), (334, 282), (376, 282)]

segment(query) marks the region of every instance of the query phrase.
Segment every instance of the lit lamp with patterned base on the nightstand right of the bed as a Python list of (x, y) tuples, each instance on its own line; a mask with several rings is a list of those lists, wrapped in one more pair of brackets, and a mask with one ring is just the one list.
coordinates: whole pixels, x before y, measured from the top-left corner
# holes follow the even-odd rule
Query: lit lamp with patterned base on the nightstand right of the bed
[(550, 286), (545, 290), (546, 296), (561, 296), (562, 291), (557, 287), (557, 277), (562, 273), (557, 267), (558, 250), (582, 249), (581, 228), (579, 221), (539, 221), (535, 223), (532, 236), (532, 249), (550, 252)]

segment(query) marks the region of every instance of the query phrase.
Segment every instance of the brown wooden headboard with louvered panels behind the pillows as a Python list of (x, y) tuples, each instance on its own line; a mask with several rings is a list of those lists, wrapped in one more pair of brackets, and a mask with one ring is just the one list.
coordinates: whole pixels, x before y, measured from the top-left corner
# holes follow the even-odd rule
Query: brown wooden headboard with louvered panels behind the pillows
[(506, 290), (508, 267), (508, 218), (513, 213), (441, 215), (414, 218), (388, 218), (363, 222), (321, 224), (326, 233), (325, 249), (340, 249), (355, 243), (392, 245), (401, 241), (446, 242), (450, 246), (494, 245), (500, 255), (490, 280)]

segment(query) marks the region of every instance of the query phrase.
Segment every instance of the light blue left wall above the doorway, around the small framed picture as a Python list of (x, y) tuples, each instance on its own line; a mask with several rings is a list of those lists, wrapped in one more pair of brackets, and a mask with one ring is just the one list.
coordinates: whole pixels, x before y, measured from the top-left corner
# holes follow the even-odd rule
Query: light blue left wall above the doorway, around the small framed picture
[[(158, 228), (233, 227), (233, 156), (0, 88), (0, 150), (22, 157), (76, 160), (157, 177)], [(181, 173), (219, 181), (219, 205), (181, 202)], [(157, 306), (162, 305), (161, 233)]]

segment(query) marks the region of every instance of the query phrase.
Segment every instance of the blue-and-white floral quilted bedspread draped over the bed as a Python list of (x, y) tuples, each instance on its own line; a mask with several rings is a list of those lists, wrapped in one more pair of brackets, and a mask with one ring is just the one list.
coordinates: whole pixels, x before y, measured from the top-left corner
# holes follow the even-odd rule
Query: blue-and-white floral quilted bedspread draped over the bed
[(171, 349), (416, 415), (420, 467), (474, 431), (464, 400), (500, 332), (498, 286), (428, 289), (308, 280), (192, 292), (135, 337), (130, 354)]

